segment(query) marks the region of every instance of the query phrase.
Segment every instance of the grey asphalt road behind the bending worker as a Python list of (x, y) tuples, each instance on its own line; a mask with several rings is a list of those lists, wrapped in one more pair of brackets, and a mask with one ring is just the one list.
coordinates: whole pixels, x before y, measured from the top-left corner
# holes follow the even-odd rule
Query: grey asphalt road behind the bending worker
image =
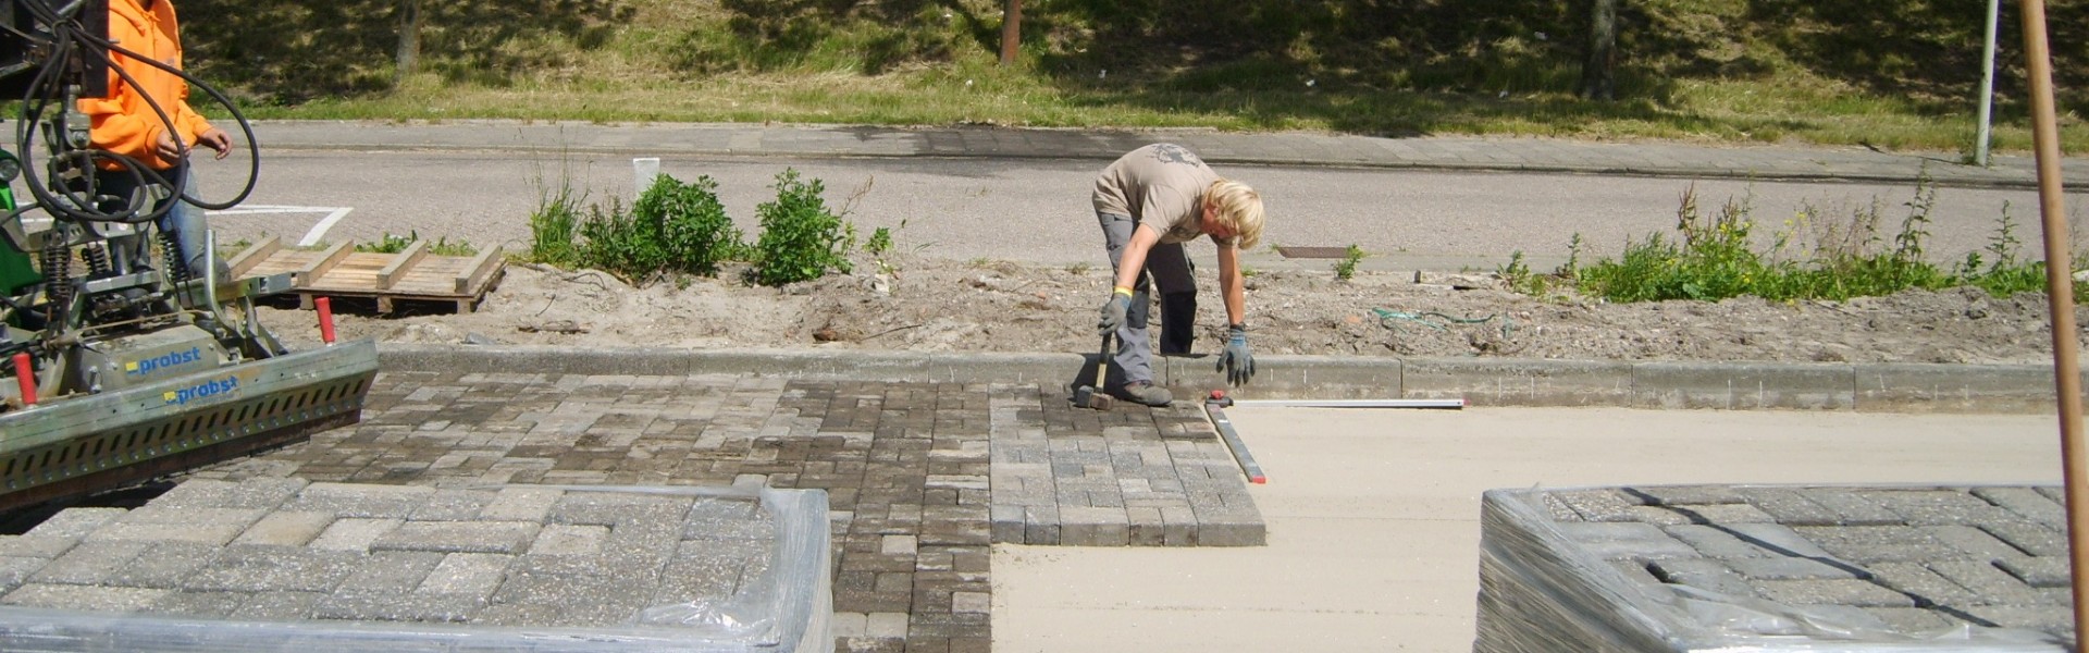
[[(898, 247), (921, 255), (1040, 264), (1101, 260), (1088, 209), (1097, 161), (660, 161), (660, 172), (685, 182), (714, 178), (727, 213), (750, 237), (758, 232), (756, 205), (775, 197), (771, 184), (785, 167), (821, 180), (827, 203), (848, 207), (846, 218), (865, 237), (879, 226), (892, 228)], [(232, 197), (244, 172), (238, 157), (203, 165), (205, 197)], [(1255, 165), (1220, 165), (1220, 174), (1264, 190), (1270, 207), (1266, 245), (1358, 245), (1372, 253), (1366, 268), (1400, 270), (1494, 268), (1512, 251), (1550, 266), (1567, 257), (1575, 234), (1586, 243), (1583, 255), (1615, 255), (1632, 239), (1673, 230), (1680, 197), (1690, 188), (1696, 188), (1705, 213), (1726, 201), (1746, 201), (1765, 245), (1807, 207), (1820, 216), (1817, 226), (1847, 228), (1855, 211), (1876, 203), (1880, 237), (1891, 245), (1909, 213), (1905, 203), (1916, 197), (1914, 184)], [(593, 153), (267, 151), (253, 197), (240, 209), (217, 216), (213, 226), (224, 243), (261, 234), (338, 243), (418, 232), (430, 241), (499, 243), (514, 251), (526, 249), (529, 216), (547, 193), (572, 188), (585, 203), (629, 205), (633, 178), (631, 157)], [(2018, 224), (2016, 239), (2026, 243), (2026, 255), (2037, 253), (2033, 190), (1941, 188), (1926, 226), (1930, 255), (1955, 262), (1985, 247), (1999, 230), (2003, 205)], [(2089, 218), (2089, 195), (2072, 193), (2068, 205), (2076, 220)], [(1268, 247), (1258, 253), (1266, 264), (1278, 260)]]

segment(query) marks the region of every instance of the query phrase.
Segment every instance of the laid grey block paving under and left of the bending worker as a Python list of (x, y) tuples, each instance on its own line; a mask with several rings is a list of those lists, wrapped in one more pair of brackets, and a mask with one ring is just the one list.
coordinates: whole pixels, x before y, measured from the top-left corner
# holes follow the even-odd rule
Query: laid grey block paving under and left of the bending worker
[[(190, 477), (825, 490), (840, 651), (986, 651), (994, 542), (1253, 546), (1264, 538), (1199, 406), (1095, 412), (1074, 408), (1063, 387), (1034, 383), (384, 373), (363, 423)], [(416, 509), (428, 511), (418, 498)], [(320, 506), (324, 494), (301, 500), (338, 509)], [(399, 517), (382, 500), (357, 500), (368, 519)], [(228, 530), (224, 540), (299, 527), (295, 511), (272, 517), (269, 527)], [(503, 555), (524, 542), (483, 530), (389, 530), (368, 544)], [(543, 534), (535, 542), (547, 546)]]

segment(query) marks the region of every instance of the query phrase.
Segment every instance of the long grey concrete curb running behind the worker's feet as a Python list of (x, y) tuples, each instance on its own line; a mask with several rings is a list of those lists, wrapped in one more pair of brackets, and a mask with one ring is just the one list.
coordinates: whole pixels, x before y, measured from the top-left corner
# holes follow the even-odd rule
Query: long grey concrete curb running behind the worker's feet
[[(382, 343), (386, 370), (522, 375), (752, 375), (907, 383), (1078, 383), (1088, 354), (800, 352)], [(1164, 358), (1178, 398), (1224, 387), (1210, 356)], [(2085, 375), (2089, 379), (2089, 375)], [(1621, 406), (1859, 412), (2049, 412), (2051, 366), (1838, 362), (1623, 362), (1262, 356), (1260, 400), (1464, 398), (1473, 406)]]

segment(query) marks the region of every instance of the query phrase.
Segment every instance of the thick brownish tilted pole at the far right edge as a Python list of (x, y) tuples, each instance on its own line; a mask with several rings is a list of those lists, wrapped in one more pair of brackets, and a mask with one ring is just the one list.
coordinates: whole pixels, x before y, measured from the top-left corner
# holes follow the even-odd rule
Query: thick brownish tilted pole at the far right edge
[(2045, 295), (2053, 312), (2053, 389), (2060, 400), (2060, 469), (2068, 496), (2068, 561), (2074, 578), (2074, 651), (2089, 653), (2089, 460), (2083, 450), (2083, 387), (2076, 362), (2074, 274), (2060, 188), (2060, 119), (2053, 109), (2053, 59), (2045, 42), (2045, 0), (2024, 0), (2024, 63), (2031, 73), (2031, 136), (2039, 155), (2039, 209), (2045, 218)]

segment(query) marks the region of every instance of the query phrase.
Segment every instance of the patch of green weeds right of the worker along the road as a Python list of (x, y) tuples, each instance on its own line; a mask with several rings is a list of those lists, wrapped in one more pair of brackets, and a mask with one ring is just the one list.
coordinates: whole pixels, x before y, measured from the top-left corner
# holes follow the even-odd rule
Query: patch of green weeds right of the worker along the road
[[(1874, 201), (1853, 211), (1847, 222), (1826, 226), (1813, 251), (1786, 257), (1786, 249), (1815, 220), (1805, 209), (1786, 230), (1774, 237), (1767, 251), (1751, 241), (1755, 220), (1746, 201), (1728, 201), (1711, 216), (1698, 209), (1694, 188), (1684, 193), (1675, 230), (1680, 239), (1646, 234), (1629, 243), (1617, 260), (1579, 264), (1575, 257), (1552, 278), (1571, 283), (1590, 297), (1609, 301), (1696, 299), (1719, 301), (1755, 295), (1771, 301), (1851, 299), (1893, 295), (1907, 289), (1978, 287), (1991, 295), (2045, 289), (2045, 262), (2018, 257), (2016, 222), (2003, 205), (2001, 224), (1982, 251), (1964, 262), (1939, 268), (1926, 257), (1930, 211), (1937, 188), (1924, 178), (1916, 197), (1905, 203), (1907, 216), (1891, 243), (1876, 234), (1880, 207)], [(1982, 255), (1985, 253), (1985, 255)], [(1521, 262), (1521, 253), (1502, 268), (1502, 278), (1521, 293), (1542, 295), (1552, 280), (1538, 278)], [(2074, 285), (2074, 297), (2085, 297), (2085, 285)]]

